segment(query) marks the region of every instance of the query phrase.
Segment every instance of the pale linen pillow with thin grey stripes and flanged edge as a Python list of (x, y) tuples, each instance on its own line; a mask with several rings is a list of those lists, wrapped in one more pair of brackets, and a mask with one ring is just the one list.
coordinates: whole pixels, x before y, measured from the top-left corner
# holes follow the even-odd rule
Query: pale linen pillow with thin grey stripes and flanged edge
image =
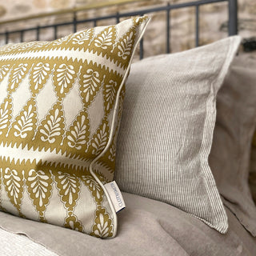
[(239, 37), (134, 63), (118, 135), (120, 189), (170, 203), (221, 233), (226, 211), (208, 165), (216, 94)]

